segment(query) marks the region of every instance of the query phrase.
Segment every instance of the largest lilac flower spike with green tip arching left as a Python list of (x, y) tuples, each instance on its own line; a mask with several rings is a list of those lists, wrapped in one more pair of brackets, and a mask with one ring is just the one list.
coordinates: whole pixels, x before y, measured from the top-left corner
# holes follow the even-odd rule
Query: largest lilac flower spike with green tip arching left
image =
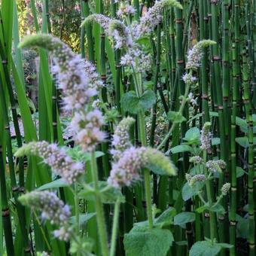
[(93, 151), (96, 145), (105, 139), (102, 126), (102, 113), (96, 109), (86, 108), (97, 90), (103, 86), (96, 69), (88, 61), (84, 62), (81, 56), (58, 38), (51, 35), (27, 36), (20, 47), (42, 47), (52, 53), (55, 63), (54, 72), (58, 73), (59, 88), (64, 94), (64, 107), (75, 111), (71, 130), (75, 133), (75, 141), (84, 151)]

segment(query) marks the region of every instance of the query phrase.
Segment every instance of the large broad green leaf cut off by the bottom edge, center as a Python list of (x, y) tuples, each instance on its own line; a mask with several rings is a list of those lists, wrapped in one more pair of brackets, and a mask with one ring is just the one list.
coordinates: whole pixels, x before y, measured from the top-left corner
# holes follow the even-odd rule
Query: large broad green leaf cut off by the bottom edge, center
[(173, 240), (170, 230), (135, 226), (124, 235), (123, 243), (126, 256), (166, 256)]

